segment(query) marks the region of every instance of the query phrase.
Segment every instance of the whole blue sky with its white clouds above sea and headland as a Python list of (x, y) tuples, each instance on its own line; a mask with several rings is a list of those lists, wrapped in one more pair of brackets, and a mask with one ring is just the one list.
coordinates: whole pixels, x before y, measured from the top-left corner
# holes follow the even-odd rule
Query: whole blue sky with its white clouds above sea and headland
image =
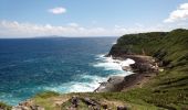
[(188, 29), (188, 0), (0, 0), (0, 38)]

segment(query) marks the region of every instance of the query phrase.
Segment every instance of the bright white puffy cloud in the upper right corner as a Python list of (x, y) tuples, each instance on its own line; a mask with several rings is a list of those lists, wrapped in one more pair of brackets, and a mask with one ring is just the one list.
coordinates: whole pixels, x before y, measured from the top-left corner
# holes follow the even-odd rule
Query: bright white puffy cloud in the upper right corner
[(176, 22), (181, 20), (188, 20), (188, 3), (182, 3), (179, 8), (170, 13), (168, 19), (164, 22)]

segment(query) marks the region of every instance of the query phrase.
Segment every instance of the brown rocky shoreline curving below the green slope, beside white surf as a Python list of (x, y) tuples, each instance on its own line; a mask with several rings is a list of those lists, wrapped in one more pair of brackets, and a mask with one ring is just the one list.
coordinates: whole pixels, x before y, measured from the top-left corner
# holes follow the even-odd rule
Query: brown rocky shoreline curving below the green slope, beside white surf
[(115, 92), (126, 91), (129, 88), (142, 87), (153, 76), (156, 76), (159, 72), (158, 63), (152, 56), (145, 55), (123, 55), (121, 57), (113, 57), (114, 59), (127, 59), (135, 61), (135, 64), (129, 66), (123, 66), (126, 72), (133, 72), (128, 76), (112, 76), (107, 81), (101, 82), (100, 87), (94, 92)]

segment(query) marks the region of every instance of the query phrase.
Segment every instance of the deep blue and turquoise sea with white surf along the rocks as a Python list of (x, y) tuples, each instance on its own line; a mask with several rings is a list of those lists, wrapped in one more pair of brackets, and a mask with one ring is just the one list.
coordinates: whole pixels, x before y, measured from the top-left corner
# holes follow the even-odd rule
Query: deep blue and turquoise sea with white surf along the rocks
[(0, 40), (0, 101), (18, 105), (38, 92), (84, 92), (124, 72), (103, 57), (117, 37)]

